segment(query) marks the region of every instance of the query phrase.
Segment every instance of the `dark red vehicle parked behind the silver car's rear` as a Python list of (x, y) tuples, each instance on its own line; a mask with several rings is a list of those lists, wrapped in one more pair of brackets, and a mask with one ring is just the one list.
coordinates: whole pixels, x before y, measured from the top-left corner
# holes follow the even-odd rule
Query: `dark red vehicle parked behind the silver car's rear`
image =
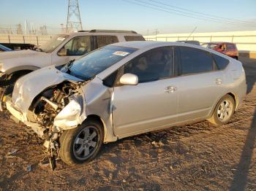
[(203, 47), (210, 48), (212, 50), (216, 50), (217, 52), (221, 52), (222, 54), (228, 55), (231, 58), (235, 58), (238, 60), (238, 49), (236, 44), (230, 42), (208, 42), (202, 44)]

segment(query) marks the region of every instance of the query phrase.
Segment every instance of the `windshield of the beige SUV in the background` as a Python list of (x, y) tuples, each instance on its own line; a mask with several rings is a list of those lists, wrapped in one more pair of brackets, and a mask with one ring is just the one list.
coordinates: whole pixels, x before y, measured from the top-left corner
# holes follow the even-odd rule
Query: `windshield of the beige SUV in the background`
[(46, 42), (45, 44), (42, 44), (39, 47), (39, 50), (41, 50), (42, 52), (51, 53), (54, 50), (56, 50), (56, 48), (59, 47), (59, 44), (61, 44), (61, 42), (63, 42), (64, 39), (67, 39), (67, 37), (69, 37), (69, 35), (67, 34), (59, 34), (53, 36), (53, 38), (50, 39), (50, 41)]

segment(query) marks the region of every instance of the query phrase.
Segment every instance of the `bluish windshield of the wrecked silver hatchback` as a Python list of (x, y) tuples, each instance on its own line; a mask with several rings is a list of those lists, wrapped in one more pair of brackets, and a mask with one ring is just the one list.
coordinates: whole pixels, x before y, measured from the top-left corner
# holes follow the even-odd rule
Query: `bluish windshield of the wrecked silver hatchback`
[[(80, 57), (70, 66), (69, 73), (80, 79), (91, 79), (127, 55), (135, 52), (134, 48), (107, 46)], [(64, 67), (64, 69), (67, 67)]]

